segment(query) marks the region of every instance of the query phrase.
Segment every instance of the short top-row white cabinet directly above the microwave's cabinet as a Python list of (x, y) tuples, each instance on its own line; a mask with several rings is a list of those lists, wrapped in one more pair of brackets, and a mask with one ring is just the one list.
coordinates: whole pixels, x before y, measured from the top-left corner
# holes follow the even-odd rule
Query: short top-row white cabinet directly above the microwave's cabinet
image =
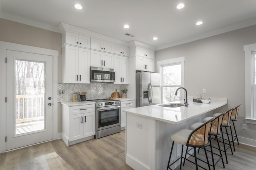
[(91, 38), (91, 49), (114, 53), (114, 43)]

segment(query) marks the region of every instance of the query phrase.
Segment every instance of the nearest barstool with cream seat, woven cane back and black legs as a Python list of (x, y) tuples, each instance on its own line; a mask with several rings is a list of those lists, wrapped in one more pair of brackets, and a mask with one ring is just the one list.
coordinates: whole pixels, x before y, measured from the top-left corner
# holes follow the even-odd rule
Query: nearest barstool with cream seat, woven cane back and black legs
[[(214, 120), (214, 118), (206, 121), (202, 125), (198, 126), (196, 129), (194, 129), (193, 131), (189, 130), (189, 129), (182, 129), (181, 131), (178, 131), (177, 133), (171, 135), (171, 139), (172, 139), (173, 142), (172, 142), (172, 149), (171, 149), (171, 152), (170, 152), (169, 161), (168, 161), (168, 165), (167, 165), (167, 170), (168, 169), (172, 170), (170, 168), (170, 166), (172, 166), (179, 159), (181, 159), (180, 160), (180, 169), (181, 169), (182, 158), (184, 159), (183, 165), (185, 163), (185, 160), (188, 160), (186, 158), (186, 155), (188, 153), (188, 147), (193, 147), (193, 149), (194, 149), (195, 162), (192, 162), (190, 160), (188, 160), (188, 161), (190, 161), (190, 162), (192, 162), (193, 164), (196, 165), (196, 170), (198, 170), (198, 166), (199, 166), (197, 164), (196, 148), (204, 148), (206, 160), (207, 160), (207, 163), (208, 163), (208, 168), (210, 169), (210, 164), (209, 164), (209, 160), (208, 160), (208, 156), (207, 156), (205, 147), (210, 145), (210, 143), (209, 143), (209, 131), (212, 127), (212, 121), (213, 120)], [(177, 160), (175, 160), (172, 164), (170, 164), (174, 142), (179, 143), (179, 144), (182, 145), (181, 157), (178, 158)], [(186, 149), (185, 157), (182, 157), (184, 145), (187, 146), (187, 149)], [(199, 166), (199, 167), (203, 168), (202, 166)], [(203, 169), (205, 169), (205, 168), (203, 168)]]

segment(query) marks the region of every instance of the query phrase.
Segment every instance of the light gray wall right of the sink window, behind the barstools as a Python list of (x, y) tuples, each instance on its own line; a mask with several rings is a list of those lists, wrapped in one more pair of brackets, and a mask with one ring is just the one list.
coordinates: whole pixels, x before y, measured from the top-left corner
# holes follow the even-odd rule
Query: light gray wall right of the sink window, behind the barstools
[[(256, 43), (256, 25), (177, 45), (155, 52), (157, 61), (185, 57), (185, 88), (188, 96), (206, 89), (206, 96), (228, 98), (228, 105), (242, 104), (236, 129), (238, 136), (256, 139), (256, 125), (245, 123), (244, 45)], [(155, 67), (156, 68), (156, 67)]]

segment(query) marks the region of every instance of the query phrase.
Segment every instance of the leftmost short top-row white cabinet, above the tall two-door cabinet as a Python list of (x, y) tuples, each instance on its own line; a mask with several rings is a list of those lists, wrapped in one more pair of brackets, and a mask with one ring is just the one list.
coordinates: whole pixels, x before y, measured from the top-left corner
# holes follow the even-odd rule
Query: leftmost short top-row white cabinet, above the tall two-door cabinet
[(66, 31), (63, 36), (63, 42), (70, 45), (77, 45), (79, 47), (90, 48), (90, 37), (84, 35), (79, 35), (77, 33), (72, 33)]

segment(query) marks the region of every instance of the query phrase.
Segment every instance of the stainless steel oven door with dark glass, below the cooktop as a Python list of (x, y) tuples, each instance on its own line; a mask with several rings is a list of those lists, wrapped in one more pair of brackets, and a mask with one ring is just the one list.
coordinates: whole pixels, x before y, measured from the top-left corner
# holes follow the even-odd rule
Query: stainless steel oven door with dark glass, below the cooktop
[(96, 108), (96, 131), (120, 125), (121, 106)]

